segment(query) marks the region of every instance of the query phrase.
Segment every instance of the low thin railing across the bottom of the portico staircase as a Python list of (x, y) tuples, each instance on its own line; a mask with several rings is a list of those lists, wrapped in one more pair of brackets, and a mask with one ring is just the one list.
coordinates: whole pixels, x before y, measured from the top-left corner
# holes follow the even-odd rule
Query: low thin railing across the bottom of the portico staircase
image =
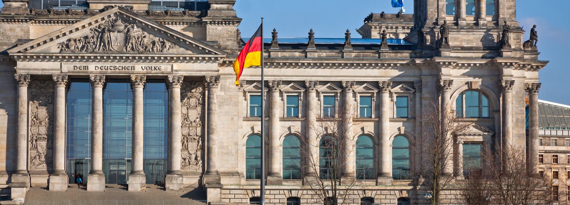
[(26, 200), (25, 205), (206, 205), (206, 200)]

